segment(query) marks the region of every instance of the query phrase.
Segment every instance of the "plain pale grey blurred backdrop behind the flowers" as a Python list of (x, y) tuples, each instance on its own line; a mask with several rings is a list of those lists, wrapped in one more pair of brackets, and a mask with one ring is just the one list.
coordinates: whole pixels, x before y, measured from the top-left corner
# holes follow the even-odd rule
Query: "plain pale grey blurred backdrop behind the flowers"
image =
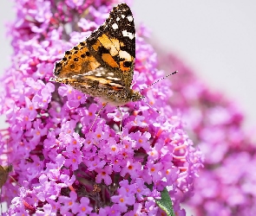
[[(11, 1), (0, 3), (1, 74), (12, 53), (5, 36), (5, 23), (15, 17), (11, 7)], [(132, 11), (137, 25), (143, 22), (152, 30), (155, 44), (177, 54), (212, 89), (236, 100), (246, 112), (246, 127), (256, 125), (255, 1), (135, 0)]]

